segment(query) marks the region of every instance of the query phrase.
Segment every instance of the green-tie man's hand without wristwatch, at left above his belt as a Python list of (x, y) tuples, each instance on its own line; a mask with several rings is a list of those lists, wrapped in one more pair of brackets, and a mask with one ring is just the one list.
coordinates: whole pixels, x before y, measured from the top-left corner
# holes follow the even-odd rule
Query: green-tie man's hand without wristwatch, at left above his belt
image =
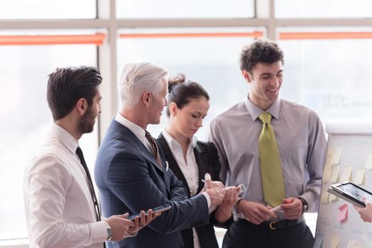
[(270, 207), (253, 201), (239, 201), (239, 205), (236, 205), (236, 210), (254, 225), (259, 225), (269, 218), (278, 218), (275, 213), (270, 211)]

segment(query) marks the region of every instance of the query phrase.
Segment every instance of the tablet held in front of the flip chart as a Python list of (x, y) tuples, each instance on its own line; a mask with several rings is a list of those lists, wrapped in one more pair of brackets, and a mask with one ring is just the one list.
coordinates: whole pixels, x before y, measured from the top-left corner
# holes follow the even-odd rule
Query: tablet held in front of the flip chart
[(350, 181), (332, 184), (327, 191), (335, 196), (338, 196), (339, 198), (344, 199), (345, 201), (349, 201), (349, 203), (357, 205), (360, 208), (366, 208), (366, 204), (363, 202), (363, 197), (366, 197), (368, 201), (372, 202), (371, 192), (351, 183)]

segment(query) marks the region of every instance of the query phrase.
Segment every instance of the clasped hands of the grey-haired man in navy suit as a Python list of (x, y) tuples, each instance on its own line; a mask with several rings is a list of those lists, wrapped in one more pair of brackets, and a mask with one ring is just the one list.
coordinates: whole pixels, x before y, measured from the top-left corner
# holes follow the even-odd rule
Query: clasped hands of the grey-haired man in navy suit
[(240, 187), (229, 186), (225, 188), (220, 181), (212, 181), (208, 173), (205, 174), (204, 179), (204, 189), (208, 193), (212, 205), (220, 205), (222, 201), (229, 201), (230, 198), (237, 199), (237, 195), (240, 193)]

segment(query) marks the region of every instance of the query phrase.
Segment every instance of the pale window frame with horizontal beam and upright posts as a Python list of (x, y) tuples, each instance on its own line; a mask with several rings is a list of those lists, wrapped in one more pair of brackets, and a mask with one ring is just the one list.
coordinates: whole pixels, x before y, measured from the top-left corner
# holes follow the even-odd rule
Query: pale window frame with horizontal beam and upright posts
[[(0, 30), (61, 30), (94, 28), (106, 36), (102, 45), (97, 47), (97, 65), (102, 72), (102, 114), (99, 115), (99, 142), (104, 137), (112, 117), (118, 111), (117, 79), (117, 39), (121, 28), (230, 28), (263, 27), (265, 38), (279, 40), (283, 34), (278, 29), (291, 26), (305, 28), (323, 27), (371, 27), (372, 18), (275, 18), (275, 0), (255, 0), (253, 18), (116, 18), (116, 0), (97, 0), (97, 18), (72, 20), (0, 20)], [(102, 32), (101, 32), (102, 30)], [(281, 36), (282, 35), (282, 36)], [(310, 35), (311, 36), (311, 35)], [(299, 37), (297, 37), (299, 38)], [(358, 37), (354, 37), (358, 38)], [(0, 247), (28, 247), (24, 240), (1, 241)]]

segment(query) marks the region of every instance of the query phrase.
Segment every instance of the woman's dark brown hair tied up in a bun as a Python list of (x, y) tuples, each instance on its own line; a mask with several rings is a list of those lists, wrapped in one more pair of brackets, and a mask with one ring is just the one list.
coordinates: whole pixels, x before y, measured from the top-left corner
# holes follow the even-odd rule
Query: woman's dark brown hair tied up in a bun
[[(209, 101), (207, 91), (195, 81), (185, 82), (185, 74), (177, 74), (177, 77), (168, 79), (168, 103), (177, 104), (177, 108), (183, 108), (191, 99), (197, 99), (204, 96)], [(170, 116), (169, 105), (167, 107), (167, 116)]]

